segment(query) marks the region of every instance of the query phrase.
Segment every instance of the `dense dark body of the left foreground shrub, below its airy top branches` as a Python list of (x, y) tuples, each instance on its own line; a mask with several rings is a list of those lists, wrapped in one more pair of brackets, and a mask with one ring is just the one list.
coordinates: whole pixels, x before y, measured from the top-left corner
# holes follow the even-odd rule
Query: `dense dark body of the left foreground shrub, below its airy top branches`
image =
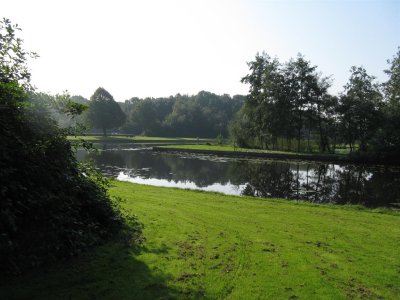
[(28, 97), (0, 82), (0, 273), (79, 254), (126, 226), (107, 182)]

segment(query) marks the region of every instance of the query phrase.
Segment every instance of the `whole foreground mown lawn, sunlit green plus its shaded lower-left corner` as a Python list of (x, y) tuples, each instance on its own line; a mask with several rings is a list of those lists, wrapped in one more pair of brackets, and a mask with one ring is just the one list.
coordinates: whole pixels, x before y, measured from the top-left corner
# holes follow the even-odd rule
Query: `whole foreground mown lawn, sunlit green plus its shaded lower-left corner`
[(140, 251), (110, 243), (4, 282), (1, 299), (396, 299), (400, 215), (116, 182), (144, 224)]

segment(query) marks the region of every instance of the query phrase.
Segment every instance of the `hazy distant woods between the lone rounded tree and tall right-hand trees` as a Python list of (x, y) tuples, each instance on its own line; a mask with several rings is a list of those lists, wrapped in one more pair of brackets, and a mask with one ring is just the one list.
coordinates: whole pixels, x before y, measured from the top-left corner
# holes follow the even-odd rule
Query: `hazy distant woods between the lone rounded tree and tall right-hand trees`
[(206, 91), (194, 96), (132, 98), (122, 104), (127, 122), (121, 131), (149, 136), (227, 136), (228, 123), (242, 104), (243, 96)]

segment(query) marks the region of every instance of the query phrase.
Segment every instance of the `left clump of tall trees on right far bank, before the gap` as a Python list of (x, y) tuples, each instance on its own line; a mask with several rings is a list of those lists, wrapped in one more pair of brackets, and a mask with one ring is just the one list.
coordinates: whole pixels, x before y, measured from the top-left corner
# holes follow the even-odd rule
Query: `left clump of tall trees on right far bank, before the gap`
[[(321, 78), (302, 55), (281, 64), (257, 54), (248, 65), (250, 74), (242, 82), (250, 84), (249, 95), (231, 125), (233, 139), (239, 145), (283, 150), (279, 140), (296, 138), (297, 151), (310, 151), (311, 138), (318, 136), (320, 151), (330, 150), (334, 101), (327, 94), (329, 78)], [(292, 150), (290, 144), (287, 148)]]

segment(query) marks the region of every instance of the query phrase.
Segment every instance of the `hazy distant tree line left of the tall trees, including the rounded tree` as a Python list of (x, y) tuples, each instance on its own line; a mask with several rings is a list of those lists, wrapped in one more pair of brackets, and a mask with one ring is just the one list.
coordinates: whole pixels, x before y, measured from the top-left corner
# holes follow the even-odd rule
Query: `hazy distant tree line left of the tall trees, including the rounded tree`
[[(90, 100), (72, 96), (71, 100), (88, 105), (88, 111), (76, 119), (53, 109), (61, 127), (87, 123), (88, 132), (168, 137), (227, 137), (229, 122), (244, 103), (244, 96), (216, 95), (201, 91), (197, 95), (177, 94), (161, 98), (133, 97), (116, 102), (104, 88), (98, 88)], [(52, 104), (53, 105), (53, 104)]]

